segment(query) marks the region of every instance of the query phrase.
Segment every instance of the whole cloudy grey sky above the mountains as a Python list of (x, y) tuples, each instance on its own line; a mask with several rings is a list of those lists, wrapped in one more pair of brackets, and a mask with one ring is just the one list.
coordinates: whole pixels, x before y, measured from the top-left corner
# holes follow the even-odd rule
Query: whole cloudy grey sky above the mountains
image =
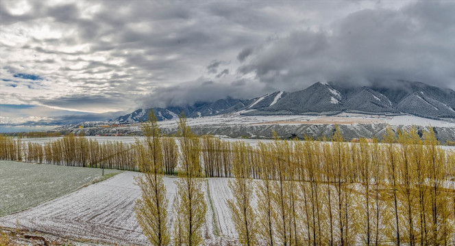
[(455, 1), (0, 1), (0, 131), (317, 81), (455, 89)]

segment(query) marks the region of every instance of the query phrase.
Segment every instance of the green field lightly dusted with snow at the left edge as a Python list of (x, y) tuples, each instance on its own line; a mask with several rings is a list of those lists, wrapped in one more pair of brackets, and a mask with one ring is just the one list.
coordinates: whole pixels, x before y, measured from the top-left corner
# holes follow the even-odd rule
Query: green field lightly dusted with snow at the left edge
[[(105, 169), (105, 174), (119, 172)], [(0, 161), (0, 216), (75, 191), (101, 176), (101, 169)]]

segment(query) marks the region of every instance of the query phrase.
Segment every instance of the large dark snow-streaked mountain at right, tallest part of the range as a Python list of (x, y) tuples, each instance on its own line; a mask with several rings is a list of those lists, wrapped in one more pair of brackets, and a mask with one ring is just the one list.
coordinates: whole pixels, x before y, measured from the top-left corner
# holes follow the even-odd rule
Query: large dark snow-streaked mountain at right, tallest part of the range
[(395, 81), (391, 87), (315, 83), (284, 96), (261, 113), (409, 113), (426, 118), (455, 118), (455, 92), (421, 82)]

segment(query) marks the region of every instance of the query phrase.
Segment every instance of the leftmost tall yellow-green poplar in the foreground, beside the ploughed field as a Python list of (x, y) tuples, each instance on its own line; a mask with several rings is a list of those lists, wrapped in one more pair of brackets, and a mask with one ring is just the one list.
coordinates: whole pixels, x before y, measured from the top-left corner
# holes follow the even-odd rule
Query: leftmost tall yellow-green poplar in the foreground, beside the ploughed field
[(145, 140), (136, 140), (138, 152), (136, 162), (144, 174), (135, 177), (141, 197), (136, 201), (134, 211), (140, 228), (152, 245), (169, 245), (167, 226), (169, 201), (162, 176), (161, 131), (153, 109), (149, 113), (147, 123), (142, 124), (142, 130)]

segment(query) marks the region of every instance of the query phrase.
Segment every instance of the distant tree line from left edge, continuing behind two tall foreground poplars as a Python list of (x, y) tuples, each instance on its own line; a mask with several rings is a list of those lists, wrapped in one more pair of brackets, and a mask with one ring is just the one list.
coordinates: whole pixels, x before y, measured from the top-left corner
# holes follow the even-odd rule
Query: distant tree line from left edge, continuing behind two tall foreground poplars
[[(148, 137), (145, 138), (148, 139)], [(180, 139), (184, 138), (162, 136), (156, 140), (160, 146), (160, 152), (162, 152), (160, 156), (162, 158), (160, 161), (162, 171), (166, 175), (176, 173), (175, 168), (180, 158)], [(198, 137), (197, 140), (197, 145), (201, 149), (197, 152), (197, 159), (201, 160), (200, 165), (204, 165), (204, 167), (199, 167), (201, 170), (204, 169), (204, 175), (207, 177), (232, 177), (231, 143), (208, 135)], [(99, 143), (96, 139), (69, 134), (45, 143), (31, 141), (25, 143), (21, 139), (0, 135), (0, 159), (73, 167), (103, 167), (139, 171), (140, 163), (138, 163), (136, 156), (144, 147), (147, 147), (140, 146), (147, 145), (147, 141)]]

